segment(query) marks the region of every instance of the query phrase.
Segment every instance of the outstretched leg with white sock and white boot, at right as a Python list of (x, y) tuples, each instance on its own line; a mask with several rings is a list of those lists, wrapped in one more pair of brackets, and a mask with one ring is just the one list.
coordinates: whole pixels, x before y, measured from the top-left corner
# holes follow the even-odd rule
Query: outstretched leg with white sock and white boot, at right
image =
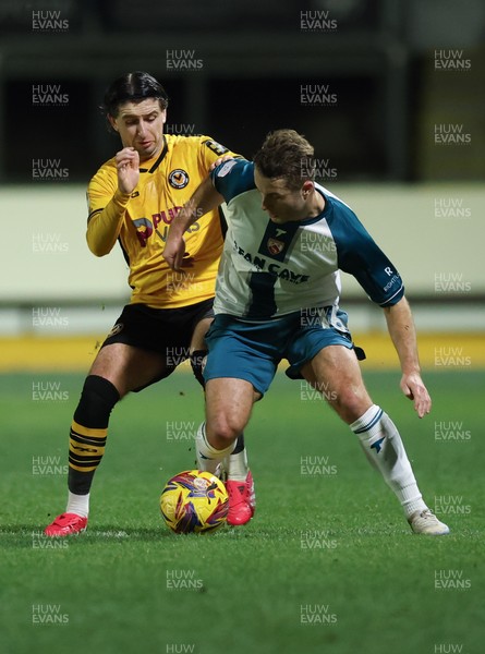
[(329, 346), (302, 367), (305, 379), (357, 435), (367, 459), (399, 499), (414, 533), (449, 533), (423, 500), (401, 436), (390, 417), (368, 396), (352, 350)]

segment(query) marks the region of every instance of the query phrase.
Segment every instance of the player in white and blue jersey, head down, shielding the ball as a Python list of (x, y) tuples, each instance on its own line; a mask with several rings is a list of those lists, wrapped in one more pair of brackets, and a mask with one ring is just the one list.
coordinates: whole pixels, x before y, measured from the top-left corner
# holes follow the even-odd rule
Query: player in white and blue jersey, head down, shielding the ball
[(352, 274), (384, 308), (402, 370), (400, 387), (420, 417), (432, 401), (422, 380), (416, 335), (401, 277), (355, 214), (314, 182), (312, 145), (293, 130), (269, 134), (254, 162), (216, 168), (173, 220), (163, 251), (181, 269), (183, 234), (227, 203), (216, 318), (206, 336), (206, 423), (197, 434), (201, 464), (215, 471), (234, 448), (253, 403), (281, 359), (303, 376), (357, 436), (367, 459), (400, 501), (414, 533), (449, 533), (417, 487), (401, 436), (371, 399), (357, 351), (339, 308), (340, 272)]

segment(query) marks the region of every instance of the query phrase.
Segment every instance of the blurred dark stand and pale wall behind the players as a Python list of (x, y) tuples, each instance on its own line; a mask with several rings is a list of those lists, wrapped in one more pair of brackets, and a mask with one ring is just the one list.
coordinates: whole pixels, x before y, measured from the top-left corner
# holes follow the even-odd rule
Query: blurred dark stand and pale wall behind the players
[[(0, 33), (1, 371), (86, 370), (129, 296), (121, 251), (97, 259), (84, 234), (119, 148), (99, 105), (131, 70), (166, 85), (168, 132), (250, 158), (304, 133), (404, 277), (424, 363), (485, 363), (481, 0), (1, 0)], [(369, 365), (396, 364), (347, 278), (342, 305)]]

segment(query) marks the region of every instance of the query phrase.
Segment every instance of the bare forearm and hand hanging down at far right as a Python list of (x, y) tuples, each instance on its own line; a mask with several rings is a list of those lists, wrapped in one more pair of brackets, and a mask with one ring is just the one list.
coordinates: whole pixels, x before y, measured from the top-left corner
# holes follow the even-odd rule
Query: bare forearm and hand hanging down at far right
[(401, 390), (413, 400), (417, 415), (423, 417), (432, 409), (432, 399), (421, 378), (416, 330), (408, 300), (402, 298), (397, 304), (386, 306), (384, 314), (401, 363)]

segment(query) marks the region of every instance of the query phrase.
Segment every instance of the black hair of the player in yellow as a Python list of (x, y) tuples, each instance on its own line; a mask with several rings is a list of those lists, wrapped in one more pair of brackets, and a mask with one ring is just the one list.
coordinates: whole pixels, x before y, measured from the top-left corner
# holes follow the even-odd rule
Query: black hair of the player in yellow
[(169, 104), (165, 88), (153, 75), (135, 71), (114, 80), (106, 90), (102, 109), (106, 116), (117, 118), (120, 105), (146, 98), (156, 98), (162, 110), (167, 109)]

